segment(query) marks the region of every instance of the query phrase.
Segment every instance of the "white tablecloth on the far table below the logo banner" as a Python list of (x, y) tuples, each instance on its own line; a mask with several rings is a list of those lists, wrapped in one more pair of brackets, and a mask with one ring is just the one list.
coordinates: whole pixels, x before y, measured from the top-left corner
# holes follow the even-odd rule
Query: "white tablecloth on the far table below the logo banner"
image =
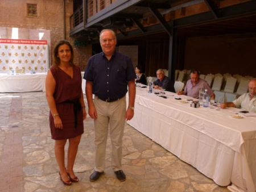
[(0, 92), (45, 91), (46, 75), (47, 73), (0, 73)]

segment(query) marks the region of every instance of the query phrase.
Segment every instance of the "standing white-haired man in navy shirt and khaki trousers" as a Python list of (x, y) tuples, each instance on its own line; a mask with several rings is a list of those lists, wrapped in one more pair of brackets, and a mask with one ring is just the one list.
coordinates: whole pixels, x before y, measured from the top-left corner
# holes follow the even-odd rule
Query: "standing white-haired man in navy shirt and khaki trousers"
[[(90, 57), (84, 74), (88, 113), (94, 119), (96, 144), (95, 167), (90, 181), (98, 180), (105, 170), (108, 129), (112, 142), (112, 168), (118, 180), (125, 181), (121, 164), (122, 137), (125, 120), (131, 120), (134, 115), (136, 74), (130, 57), (115, 51), (114, 31), (102, 30), (100, 44), (102, 52)], [(127, 85), (129, 105), (126, 109)]]

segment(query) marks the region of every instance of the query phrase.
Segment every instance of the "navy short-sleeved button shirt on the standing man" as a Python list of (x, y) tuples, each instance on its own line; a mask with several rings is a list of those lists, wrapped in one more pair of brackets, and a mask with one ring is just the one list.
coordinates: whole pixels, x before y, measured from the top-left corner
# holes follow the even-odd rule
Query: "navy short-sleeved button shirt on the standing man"
[(104, 100), (124, 97), (127, 82), (135, 78), (131, 58), (119, 52), (114, 52), (110, 60), (103, 52), (90, 57), (84, 73), (84, 79), (93, 82), (93, 94)]

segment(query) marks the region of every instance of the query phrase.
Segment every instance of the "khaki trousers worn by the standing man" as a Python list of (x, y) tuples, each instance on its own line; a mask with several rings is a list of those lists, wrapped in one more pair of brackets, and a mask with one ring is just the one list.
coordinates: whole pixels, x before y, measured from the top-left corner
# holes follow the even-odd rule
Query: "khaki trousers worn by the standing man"
[(118, 101), (107, 103), (95, 97), (94, 107), (97, 119), (94, 119), (96, 157), (95, 168), (97, 172), (105, 170), (106, 141), (108, 129), (112, 143), (111, 164), (115, 171), (122, 169), (122, 139), (125, 128), (126, 97)]

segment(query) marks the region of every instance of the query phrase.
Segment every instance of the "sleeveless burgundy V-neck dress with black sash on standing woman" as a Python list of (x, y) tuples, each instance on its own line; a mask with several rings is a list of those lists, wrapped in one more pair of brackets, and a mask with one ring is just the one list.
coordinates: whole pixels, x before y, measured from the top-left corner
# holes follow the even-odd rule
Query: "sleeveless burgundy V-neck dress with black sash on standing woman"
[(82, 78), (78, 66), (73, 66), (73, 78), (62, 69), (52, 66), (52, 76), (56, 81), (53, 94), (57, 112), (63, 124), (63, 129), (55, 128), (54, 119), (49, 112), (49, 126), (52, 139), (69, 139), (84, 133), (82, 108), (79, 102), (82, 91)]

